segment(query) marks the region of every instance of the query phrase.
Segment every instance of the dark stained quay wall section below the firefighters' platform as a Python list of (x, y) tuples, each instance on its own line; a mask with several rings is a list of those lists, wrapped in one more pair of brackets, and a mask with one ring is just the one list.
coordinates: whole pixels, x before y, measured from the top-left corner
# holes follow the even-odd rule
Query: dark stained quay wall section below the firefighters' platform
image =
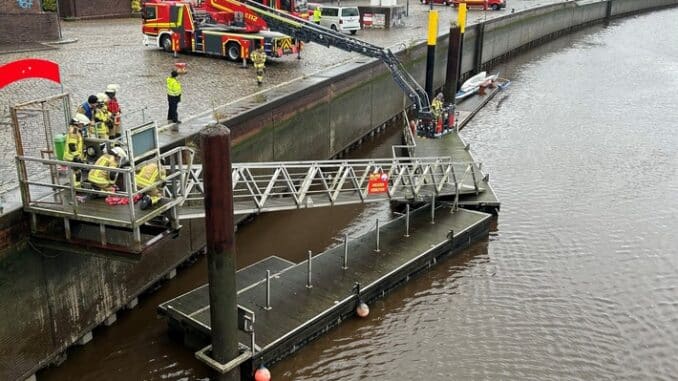
[(66, 360), (91, 331), (112, 323), (205, 245), (202, 221), (185, 222), (175, 239), (139, 261), (30, 246), (0, 263), (0, 379), (22, 380)]

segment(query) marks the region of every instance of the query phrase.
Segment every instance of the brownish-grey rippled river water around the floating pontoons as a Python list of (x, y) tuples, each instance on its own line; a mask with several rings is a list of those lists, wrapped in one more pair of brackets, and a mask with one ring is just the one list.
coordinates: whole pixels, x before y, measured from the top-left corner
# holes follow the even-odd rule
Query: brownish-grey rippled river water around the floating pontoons
[[(617, 20), (499, 68), (511, 87), (462, 131), (502, 202), (489, 240), (273, 366), (274, 379), (675, 379), (676, 20), (678, 9)], [(388, 155), (394, 136), (355, 155)], [(262, 215), (238, 233), (238, 265), (301, 261), (388, 214)], [(205, 378), (154, 312), (205, 268), (180, 271), (39, 379)]]

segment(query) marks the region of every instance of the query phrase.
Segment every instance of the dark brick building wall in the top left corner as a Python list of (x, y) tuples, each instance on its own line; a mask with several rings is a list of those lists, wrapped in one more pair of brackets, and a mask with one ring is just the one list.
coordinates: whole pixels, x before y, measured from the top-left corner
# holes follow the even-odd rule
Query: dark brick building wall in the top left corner
[(0, 43), (58, 39), (56, 14), (42, 12), (40, 0), (0, 1)]

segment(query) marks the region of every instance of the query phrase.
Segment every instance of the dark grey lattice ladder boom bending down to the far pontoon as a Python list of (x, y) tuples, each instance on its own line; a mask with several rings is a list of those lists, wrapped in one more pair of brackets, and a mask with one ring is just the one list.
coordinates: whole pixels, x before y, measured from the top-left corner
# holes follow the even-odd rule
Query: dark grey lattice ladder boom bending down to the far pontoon
[(419, 116), (430, 118), (431, 103), (428, 94), (390, 49), (349, 37), (338, 31), (267, 7), (253, 0), (243, 0), (242, 2), (249, 10), (262, 17), (271, 30), (294, 36), (304, 42), (315, 42), (327, 47), (333, 46), (347, 52), (357, 52), (368, 57), (380, 59), (391, 71), (391, 75), (398, 86), (400, 86), (405, 95), (415, 105)]

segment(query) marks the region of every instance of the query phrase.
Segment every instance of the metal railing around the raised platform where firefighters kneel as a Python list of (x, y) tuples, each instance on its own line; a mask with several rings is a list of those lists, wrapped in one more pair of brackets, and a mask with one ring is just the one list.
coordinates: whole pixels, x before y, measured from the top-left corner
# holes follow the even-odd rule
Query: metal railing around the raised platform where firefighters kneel
[[(62, 217), (69, 220), (80, 220), (102, 225), (131, 228), (135, 232), (135, 241), (140, 241), (139, 226), (162, 215), (166, 211), (181, 204), (186, 194), (188, 174), (191, 171), (194, 152), (187, 147), (177, 147), (150, 160), (169, 162), (166, 166), (167, 176), (158, 179), (153, 184), (138, 188), (135, 180), (137, 167), (111, 168), (93, 164), (74, 163), (63, 160), (17, 156), (16, 165), (19, 174), (20, 190), (24, 210), (29, 213), (45, 214)], [(49, 172), (56, 175), (49, 177), (31, 176), (27, 168), (35, 167), (29, 163), (47, 167)], [(143, 165), (144, 163), (142, 163)], [(111, 174), (120, 189), (106, 191), (87, 184), (86, 174), (92, 170), (103, 170)], [(76, 181), (78, 175), (81, 182)], [(119, 180), (119, 179), (122, 180)], [(78, 185), (80, 183), (80, 185)], [(163, 188), (163, 200), (156, 207), (148, 210), (136, 208), (134, 200), (149, 190)], [(165, 190), (170, 188), (171, 190)], [(123, 200), (118, 206), (105, 205), (103, 202), (89, 202), (95, 199), (112, 197)], [(176, 213), (172, 213), (176, 220)], [(175, 224), (176, 222), (173, 221)], [(67, 235), (70, 232), (67, 231)]]

